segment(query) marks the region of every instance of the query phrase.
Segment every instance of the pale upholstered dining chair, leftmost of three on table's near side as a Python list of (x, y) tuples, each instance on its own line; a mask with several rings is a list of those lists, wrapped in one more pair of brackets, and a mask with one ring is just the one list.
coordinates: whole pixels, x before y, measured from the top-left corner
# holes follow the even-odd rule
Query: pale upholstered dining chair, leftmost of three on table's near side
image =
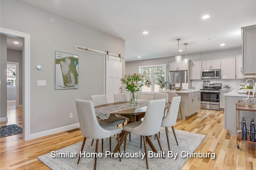
[[(99, 139), (110, 138), (112, 135), (117, 134), (118, 150), (120, 153), (119, 133), (122, 129), (114, 125), (101, 123), (99, 124), (96, 118), (95, 110), (91, 101), (76, 99), (76, 110), (78, 114), (78, 120), (84, 141), (81, 147), (81, 152), (84, 149), (84, 144), (87, 138), (96, 139), (95, 153), (98, 152)], [(79, 164), (80, 156), (78, 157)], [(119, 161), (121, 158), (119, 157)], [(97, 157), (94, 158), (94, 170), (96, 170)]]

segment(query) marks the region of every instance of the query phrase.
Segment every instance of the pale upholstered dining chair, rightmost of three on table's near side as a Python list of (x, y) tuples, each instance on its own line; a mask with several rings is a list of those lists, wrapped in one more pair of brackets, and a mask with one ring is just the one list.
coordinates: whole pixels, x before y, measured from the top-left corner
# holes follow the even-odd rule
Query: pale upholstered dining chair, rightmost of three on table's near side
[(180, 96), (172, 98), (172, 102), (170, 104), (169, 111), (166, 115), (166, 117), (163, 118), (161, 127), (165, 127), (166, 137), (167, 137), (167, 143), (168, 143), (168, 149), (170, 150), (170, 143), (169, 143), (169, 135), (168, 135), (168, 127), (172, 127), (172, 131), (176, 140), (176, 143), (178, 145), (178, 141), (176, 138), (176, 134), (174, 131), (174, 125), (177, 121), (179, 106), (180, 106)]

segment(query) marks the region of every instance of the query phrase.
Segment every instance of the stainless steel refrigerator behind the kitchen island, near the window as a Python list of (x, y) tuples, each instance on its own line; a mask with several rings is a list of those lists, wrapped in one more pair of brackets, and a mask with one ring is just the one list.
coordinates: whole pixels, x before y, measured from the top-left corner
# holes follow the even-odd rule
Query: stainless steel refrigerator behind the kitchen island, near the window
[(169, 72), (169, 84), (170, 90), (173, 90), (175, 83), (188, 83), (188, 71), (170, 71)]

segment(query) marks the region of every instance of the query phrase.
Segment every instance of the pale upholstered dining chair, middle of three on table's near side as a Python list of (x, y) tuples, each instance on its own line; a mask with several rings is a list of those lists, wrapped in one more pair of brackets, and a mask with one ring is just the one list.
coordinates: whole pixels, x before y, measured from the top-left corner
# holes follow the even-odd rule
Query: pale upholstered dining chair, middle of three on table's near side
[(157, 133), (160, 131), (160, 128), (161, 128), (162, 117), (164, 115), (165, 102), (166, 102), (165, 99), (150, 100), (146, 109), (144, 120), (137, 121), (134, 123), (129, 123), (127, 125), (124, 125), (124, 128), (123, 128), (123, 130), (125, 131), (124, 152), (126, 149), (126, 139), (127, 139), (128, 132), (133, 133), (135, 135), (140, 135), (143, 137), (147, 169), (148, 169), (148, 156), (147, 156), (145, 137), (156, 135), (160, 150), (162, 151), (162, 146), (160, 144), (160, 140), (158, 138)]

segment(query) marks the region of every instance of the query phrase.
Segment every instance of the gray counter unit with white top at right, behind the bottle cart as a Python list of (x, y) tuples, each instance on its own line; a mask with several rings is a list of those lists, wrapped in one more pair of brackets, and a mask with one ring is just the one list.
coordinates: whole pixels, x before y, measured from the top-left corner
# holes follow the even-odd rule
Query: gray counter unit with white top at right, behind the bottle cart
[[(239, 100), (243, 100), (244, 97), (248, 97), (246, 94), (239, 94), (238, 90), (232, 90), (224, 94), (225, 96), (225, 110), (224, 110), (224, 126), (225, 129), (230, 130), (230, 135), (236, 136), (236, 103)], [(252, 95), (249, 96), (252, 98)], [(256, 117), (256, 111), (240, 111), (240, 120), (242, 116), (248, 117)], [(250, 122), (246, 122), (250, 123)]]

